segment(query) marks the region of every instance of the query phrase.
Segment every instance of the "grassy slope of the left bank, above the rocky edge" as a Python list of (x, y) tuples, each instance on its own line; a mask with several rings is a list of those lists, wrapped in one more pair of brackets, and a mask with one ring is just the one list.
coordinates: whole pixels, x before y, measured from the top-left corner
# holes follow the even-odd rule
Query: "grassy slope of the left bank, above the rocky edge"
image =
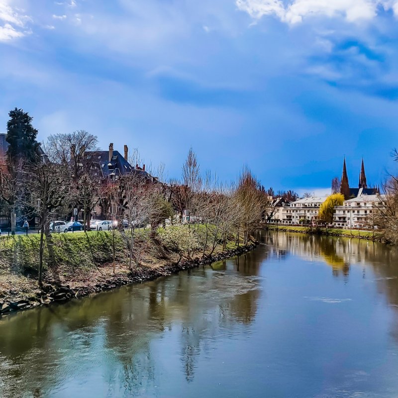
[[(204, 226), (196, 226), (194, 231), (183, 226), (181, 228), (185, 228), (180, 231), (183, 232), (182, 238), (192, 240), (186, 243), (190, 249), (188, 252), (180, 242), (169, 243), (170, 239), (165, 239), (167, 233), (163, 229), (156, 234), (151, 234), (149, 230), (137, 230), (134, 235), (133, 274), (144, 276), (145, 279), (145, 275), (159, 276), (162, 272), (167, 275), (170, 265), (180, 262), (182, 269), (187, 261), (200, 264), (204, 246), (205, 256), (208, 257), (212, 245), (210, 241), (206, 244)], [(127, 242), (130, 238), (131, 235), (124, 231), (53, 234), (45, 242), (44, 283), (69, 286), (76, 292), (84, 289), (91, 292), (93, 289), (90, 288), (102, 286), (105, 282), (108, 285), (112, 281), (127, 283), (132, 275), (128, 269), (130, 251)], [(1, 302), (40, 297), (37, 285), (39, 243), (39, 235), (35, 234), (0, 239), (0, 312)], [(235, 236), (228, 237), (224, 250), (221, 242), (217, 243), (220, 244), (217, 244), (211, 253), (213, 256), (208, 259), (232, 253), (242, 245), (241, 242), (236, 244)]]

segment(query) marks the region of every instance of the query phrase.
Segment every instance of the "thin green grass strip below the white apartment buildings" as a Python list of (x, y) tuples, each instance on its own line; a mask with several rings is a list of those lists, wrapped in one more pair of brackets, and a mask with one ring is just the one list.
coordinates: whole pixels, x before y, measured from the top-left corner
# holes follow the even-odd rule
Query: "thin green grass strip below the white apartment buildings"
[(331, 235), (331, 236), (342, 236), (345, 238), (358, 238), (358, 239), (367, 239), (373, 240), (377, 242), (383, 242), (383, 237), (378, 232), (370, 232), (370, 231), (359, 231), (359, 230), (350, 230), (350, 229), (339, 229), (339, 228), (326, 228), (315, 229), (308, 227), (300, 227), (300, 226), (288, 226), (288, 225), (268, 225), (268, 229), (271, 230), (279, 230), (284, 232), (297, 232), (297, 233), (306, 233), (306, 234), (317, 234), (317, 235)]

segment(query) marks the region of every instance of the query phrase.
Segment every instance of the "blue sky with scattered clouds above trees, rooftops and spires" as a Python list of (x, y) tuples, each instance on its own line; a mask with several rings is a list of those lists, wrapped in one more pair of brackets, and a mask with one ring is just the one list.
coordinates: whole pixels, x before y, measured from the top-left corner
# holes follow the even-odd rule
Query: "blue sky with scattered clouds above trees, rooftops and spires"
[(0, 0), (0, 132), (87, 130), (181, 175), (327, 193), (396, 170), (398, 0)]

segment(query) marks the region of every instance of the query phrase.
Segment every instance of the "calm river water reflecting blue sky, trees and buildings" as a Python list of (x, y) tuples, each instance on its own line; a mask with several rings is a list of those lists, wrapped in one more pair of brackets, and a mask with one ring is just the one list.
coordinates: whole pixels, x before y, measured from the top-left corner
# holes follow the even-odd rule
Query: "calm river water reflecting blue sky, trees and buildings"
[(0, 320), (0, 397), (398, 397), (398, 252), (251, 253)]

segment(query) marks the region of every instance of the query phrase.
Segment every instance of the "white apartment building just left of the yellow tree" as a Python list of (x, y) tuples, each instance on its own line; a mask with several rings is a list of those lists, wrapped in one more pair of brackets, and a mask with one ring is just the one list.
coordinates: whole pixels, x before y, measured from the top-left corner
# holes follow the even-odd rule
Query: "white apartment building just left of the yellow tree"
[(326, 197), (298, 199), (282, 209), (282, 224), (298, 224), (300, 220), (315, 221)]

